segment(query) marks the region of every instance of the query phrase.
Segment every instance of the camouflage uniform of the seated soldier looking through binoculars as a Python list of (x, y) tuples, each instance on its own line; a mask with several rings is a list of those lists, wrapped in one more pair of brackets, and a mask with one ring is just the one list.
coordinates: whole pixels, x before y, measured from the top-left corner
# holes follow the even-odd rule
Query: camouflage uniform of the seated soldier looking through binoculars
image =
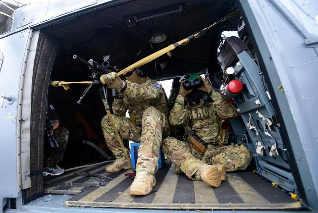
[[(226, 146), (228, 134), (221, 130), (221, 120), (238, 116), (234, 106), (225, 102), (221, 95), (213, 92), (213, 103), (201, 100), (199, 105), (185, 106), (185, 98), (178, 95), (170, 112), (171, 126), (184, 125), (188, 142), (175, 138), (166, 138), (162, 141), (162, 150), (169, 160), (178, 165), (189, 177), (194, 178), (194, 173), (204, 163), (224, 164), (227, 171), (243, 170), (251, 160), (251, 154), (243, 145)], [(197, 135), (208, 144), (203, 155), (192, 148), (189, 141), (189, 120), (193, 121), (193, 129)]]

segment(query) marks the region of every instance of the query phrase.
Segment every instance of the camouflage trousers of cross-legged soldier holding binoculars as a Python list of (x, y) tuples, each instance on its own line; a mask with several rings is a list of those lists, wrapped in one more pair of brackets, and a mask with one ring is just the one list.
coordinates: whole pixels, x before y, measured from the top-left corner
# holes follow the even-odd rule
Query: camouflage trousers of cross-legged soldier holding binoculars
[(191, 144), (167, 137), (162, 141), (162, 151), (167, 158), (178, 165), (189, 177), (205, 163), (224, 164), (227, 171), (244, 170), (251, 161), (251, 153), (243, 145), (208, 145), (206, 152), (200, 155)]

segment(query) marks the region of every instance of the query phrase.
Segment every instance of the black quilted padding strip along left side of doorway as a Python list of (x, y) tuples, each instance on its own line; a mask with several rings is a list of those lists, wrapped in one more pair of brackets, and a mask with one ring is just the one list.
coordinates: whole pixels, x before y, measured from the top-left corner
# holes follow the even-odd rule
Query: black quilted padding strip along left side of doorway
[(42, 168), (44, 153), (44, 127), (47, 93), (51, 70), (60, 42), (41, 32), (36, 49), (32, 79), (31, 103), (31, 188), (23, 191), (23, 203), (28, 203), (43, 194)]

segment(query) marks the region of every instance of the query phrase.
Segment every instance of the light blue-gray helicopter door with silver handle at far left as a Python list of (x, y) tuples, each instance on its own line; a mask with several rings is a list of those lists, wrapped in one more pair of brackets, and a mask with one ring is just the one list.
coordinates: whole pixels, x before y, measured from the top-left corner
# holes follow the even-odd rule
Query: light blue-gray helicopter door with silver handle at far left
[[(0, 198), (2, 208), (7, 203), (7, 198), (21, 196), (21, 162), (25, 163), (21, 160), (21, 133), (23, 133), (21, 123), (22, 120), (24, 121), (21, 118), (22, 93), (32, 40), (31, 29), (0, 40), (0, 167), (2, 174), (0, 175)], [(26, 132), (28, 131), (24, 133)]]

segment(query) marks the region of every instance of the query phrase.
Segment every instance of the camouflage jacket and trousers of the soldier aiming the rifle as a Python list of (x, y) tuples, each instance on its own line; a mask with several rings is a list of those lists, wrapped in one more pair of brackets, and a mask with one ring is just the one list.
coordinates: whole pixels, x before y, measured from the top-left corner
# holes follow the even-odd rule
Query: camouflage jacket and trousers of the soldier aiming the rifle
[[(113, 102), (113, 115), (119, 134), (134, 142), (141, 142), (136, 170), (155, 174), (158, 167), (159, 148), (162, 138), (169, 133), (168, 108), (165, 95), (158, 84), (146, 77), (145, 83), (127, 82), (121, 98)], [(126, 111), (130, 118), (124, 117)], [(107, 147), (116, 159), (125, 159), (108, 116), (101, 121)]]

